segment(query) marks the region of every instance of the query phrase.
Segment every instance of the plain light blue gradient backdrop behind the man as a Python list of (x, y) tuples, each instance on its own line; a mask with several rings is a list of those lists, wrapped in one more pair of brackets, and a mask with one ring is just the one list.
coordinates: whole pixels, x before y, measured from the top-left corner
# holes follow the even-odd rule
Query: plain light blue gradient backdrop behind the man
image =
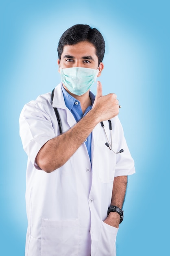
[(24, 255), (27, 157), (19, 137), (20, 112), (59, 83), (58, 41), (78, 23), (96, 27), (105, 38), (103, 94), (118, 95), (135, 160), (117, 256), (168, 254), (169, 9), (168, 0), (0, 2), (0, 255)]

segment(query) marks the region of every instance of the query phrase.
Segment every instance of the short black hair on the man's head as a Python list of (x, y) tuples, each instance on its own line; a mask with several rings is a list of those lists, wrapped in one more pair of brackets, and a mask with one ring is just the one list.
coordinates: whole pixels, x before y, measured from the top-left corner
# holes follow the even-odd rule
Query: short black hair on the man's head
[(94, 45), (98, 63), (102, 62), (105, 54), (105, 40), (98, 29), (89, 25), (74, 25), (62, 34), (57, 48), (59, 60), (65, 45), (75, 45), (82, 41), (88, 41)]

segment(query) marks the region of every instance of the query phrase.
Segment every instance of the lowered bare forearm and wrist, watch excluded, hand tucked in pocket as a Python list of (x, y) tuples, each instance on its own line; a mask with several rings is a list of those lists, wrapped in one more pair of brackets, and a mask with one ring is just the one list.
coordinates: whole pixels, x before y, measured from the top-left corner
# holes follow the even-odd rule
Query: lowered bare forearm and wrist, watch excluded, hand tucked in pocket
[[(124, 198), (126, 195), (127, 176), (118, 176), (114, 178), (111, 205), (116, 205), (120, 209), (123, 207)], [(104, 221), (110, 226), (119, 227), (120, 215), (116, 212), (110, 212), (109, 216)]]

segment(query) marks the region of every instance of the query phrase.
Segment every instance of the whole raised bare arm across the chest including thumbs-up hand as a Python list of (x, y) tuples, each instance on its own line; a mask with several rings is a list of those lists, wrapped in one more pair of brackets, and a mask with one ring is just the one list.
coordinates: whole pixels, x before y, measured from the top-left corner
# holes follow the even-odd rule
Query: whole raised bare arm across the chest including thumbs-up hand
[(70, 130), (47, 141), (37, 154), (37, 165), (50, 173), (65, 164), (100, 121), (118, 115), (119, 105), (116, 98), (116, 94), (102, 96), (102, 85), (98, 82), (92, 110)]

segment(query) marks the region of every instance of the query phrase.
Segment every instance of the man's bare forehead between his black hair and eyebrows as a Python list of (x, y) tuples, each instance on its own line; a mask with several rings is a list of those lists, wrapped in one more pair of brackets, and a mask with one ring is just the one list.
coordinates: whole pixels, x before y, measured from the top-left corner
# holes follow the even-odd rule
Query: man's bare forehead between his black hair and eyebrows
[(72, 55), (75, 57), (92, 55), (93, 57), (96, 56), (97, 58), (96, 48), (92, 43), (89, 43), (87, 41), (76, 43), (75, 45), (65, 45), (63, 47), (61, 57), (64, 55)]

